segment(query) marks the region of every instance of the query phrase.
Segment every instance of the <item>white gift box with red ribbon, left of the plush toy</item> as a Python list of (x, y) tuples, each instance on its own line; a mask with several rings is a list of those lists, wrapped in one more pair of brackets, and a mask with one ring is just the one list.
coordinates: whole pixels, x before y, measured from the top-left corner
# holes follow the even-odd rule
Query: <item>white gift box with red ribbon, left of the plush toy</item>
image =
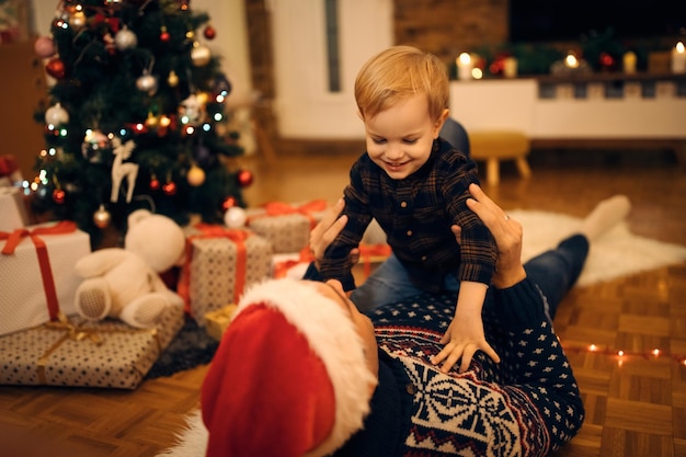
[(0, 232), (0, 335), (76, 313), (73, 266), (91, 252), (88, 233), (72, 221), (43, 224)]

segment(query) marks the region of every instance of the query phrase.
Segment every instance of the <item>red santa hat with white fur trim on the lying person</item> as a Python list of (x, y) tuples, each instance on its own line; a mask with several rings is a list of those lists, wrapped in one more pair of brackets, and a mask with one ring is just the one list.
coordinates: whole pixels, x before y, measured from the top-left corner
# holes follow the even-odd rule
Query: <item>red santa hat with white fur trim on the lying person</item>
[(347, 311), (313, 284), (250, 288), (201, 393), (207, 456), (324, 456), (369, 412), (376, 382)]

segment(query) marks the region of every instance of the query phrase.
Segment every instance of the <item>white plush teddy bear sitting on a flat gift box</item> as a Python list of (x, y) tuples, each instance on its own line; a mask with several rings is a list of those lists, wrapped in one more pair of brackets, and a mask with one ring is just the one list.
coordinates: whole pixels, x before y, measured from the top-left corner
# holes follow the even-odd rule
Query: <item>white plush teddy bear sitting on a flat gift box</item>
[(172, 219), (146, 209), (132, 213), (124, 248), (91, 252), (76, 264), (83, 283), (76, 308), (89, 320), (118, 318), (137, 328), (155, 327), (168, 306), (183, 300), (162, 282), (162, 273), (183, 259), (185, 237)]

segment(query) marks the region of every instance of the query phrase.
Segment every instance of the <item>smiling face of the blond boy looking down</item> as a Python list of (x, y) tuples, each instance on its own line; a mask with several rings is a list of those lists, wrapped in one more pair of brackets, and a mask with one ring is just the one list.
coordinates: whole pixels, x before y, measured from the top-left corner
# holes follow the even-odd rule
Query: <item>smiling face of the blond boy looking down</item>
[(438, 119), (432, 119), (423, 94), (401, 101), (364, 119), (367, 153), (391, 179), (403, 180), (426, 163), (447, 116), (444, 110)]

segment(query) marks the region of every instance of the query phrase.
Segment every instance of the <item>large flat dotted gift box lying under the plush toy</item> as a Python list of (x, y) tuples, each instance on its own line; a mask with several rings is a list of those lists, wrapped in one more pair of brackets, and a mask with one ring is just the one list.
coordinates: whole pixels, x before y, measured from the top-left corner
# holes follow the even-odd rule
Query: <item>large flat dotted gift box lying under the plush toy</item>
[(135, 389), (183, 327), (184, 312), (170, 306), (153, 329), (75, 321), (0, 336), (0, 384)]

